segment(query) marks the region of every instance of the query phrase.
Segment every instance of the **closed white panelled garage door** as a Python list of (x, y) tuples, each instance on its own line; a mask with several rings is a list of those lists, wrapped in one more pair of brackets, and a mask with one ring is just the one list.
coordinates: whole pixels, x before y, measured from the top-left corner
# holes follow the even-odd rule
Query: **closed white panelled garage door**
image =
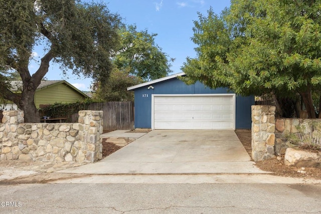
[(235, 94), (152, 96), (153, 129), (235, 129)]

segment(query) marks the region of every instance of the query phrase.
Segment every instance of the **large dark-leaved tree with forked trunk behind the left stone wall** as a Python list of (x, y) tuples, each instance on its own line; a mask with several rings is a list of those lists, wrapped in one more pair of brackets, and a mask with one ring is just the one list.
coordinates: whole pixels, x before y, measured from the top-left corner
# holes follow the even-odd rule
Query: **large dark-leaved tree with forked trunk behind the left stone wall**
[[(119, 41), (121, 19), (103, 4), (75, 0), (0, 0), (0, 70), (14, 69), (23, 81), (20, 94), (10, 90), (0, 72), (0, 96), (15, 102), (25, 113), (25, 122), (39, 122), (34, 94), (48, 72), (50, 62), (63, 72), (108, 78), (110, 53)], [(44, 46), (38, 70), (28, 68), (37, 45)]]

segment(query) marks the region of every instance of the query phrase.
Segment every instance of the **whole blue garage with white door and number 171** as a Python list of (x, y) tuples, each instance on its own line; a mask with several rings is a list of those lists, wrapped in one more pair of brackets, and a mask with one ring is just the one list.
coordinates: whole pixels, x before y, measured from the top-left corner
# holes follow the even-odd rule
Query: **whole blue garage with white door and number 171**
[(134, 129), (235, 130), (251, 128), (254, 96), (229, 88), (186, 84), (185, 73), (128, 87), (134, 91)]

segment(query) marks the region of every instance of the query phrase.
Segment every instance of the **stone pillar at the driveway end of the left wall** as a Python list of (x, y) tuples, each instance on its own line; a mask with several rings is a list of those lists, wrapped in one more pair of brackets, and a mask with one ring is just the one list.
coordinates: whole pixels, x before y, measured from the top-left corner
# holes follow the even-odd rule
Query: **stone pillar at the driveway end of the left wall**
[[(102, 159), (103, 111), (79, 111), (78, 122), (83, 124), (85, 151), (79, 151), (78, 162)], [(83, 160), (81, 160), (83, 159)]]

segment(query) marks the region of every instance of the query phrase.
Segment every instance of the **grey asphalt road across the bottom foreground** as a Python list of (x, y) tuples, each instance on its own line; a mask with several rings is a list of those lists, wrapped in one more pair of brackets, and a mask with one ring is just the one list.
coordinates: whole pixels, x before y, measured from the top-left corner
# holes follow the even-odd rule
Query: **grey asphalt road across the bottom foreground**
[(0, 213), (321, 213), (318, 184), (19, 184), (0, 189)]

